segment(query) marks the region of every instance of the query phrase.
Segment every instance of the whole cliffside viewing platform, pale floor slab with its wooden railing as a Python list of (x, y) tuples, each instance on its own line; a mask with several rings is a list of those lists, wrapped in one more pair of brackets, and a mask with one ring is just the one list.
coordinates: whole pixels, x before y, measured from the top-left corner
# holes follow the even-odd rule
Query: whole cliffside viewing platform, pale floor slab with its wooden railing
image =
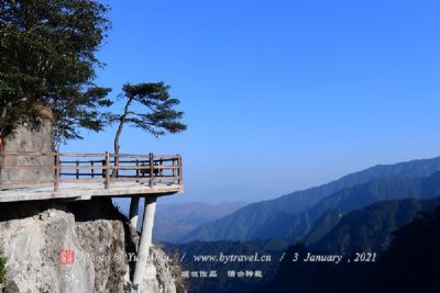
[(0, 153), (0, 202), (183, 192), (179, 155)]

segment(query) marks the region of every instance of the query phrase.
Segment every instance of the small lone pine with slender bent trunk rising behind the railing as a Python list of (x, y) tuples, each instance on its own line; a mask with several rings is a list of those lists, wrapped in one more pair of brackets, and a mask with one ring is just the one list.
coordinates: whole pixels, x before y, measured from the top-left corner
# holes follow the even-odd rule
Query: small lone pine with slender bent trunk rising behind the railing
[[(119, 123), (114, 135), (114, 155), (119, 155), (119, 142), (125, 123), (155, 137), (165, 135), (167, 132), (174, 134), (186, 129), (187, 126), (180, 123), (184, 112), (175, 110), (179, 100), (170, 98), (168, 89), (169, 86), (164, 82), (125, 83), (123, 86), (123, 92), (119, 97), (125, 100), (123, 113), (110, 115), (110, 122)], [(118, 156), (114, 158), (114, 165), (119, 166)]]

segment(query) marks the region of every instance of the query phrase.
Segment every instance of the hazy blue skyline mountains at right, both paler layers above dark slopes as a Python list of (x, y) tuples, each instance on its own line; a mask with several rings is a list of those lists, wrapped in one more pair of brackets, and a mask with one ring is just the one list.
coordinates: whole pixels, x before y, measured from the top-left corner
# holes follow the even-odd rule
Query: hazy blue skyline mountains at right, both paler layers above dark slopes
[(375, 166), (317, 188), (249, 204), (201, 225), (180, 241), (294, 240), (306, 236), (329, 209), (348, 213), (383, 200), (439, 195), (440, 174), (433, 174), (437, 171), (440, 171), (440, 157)]

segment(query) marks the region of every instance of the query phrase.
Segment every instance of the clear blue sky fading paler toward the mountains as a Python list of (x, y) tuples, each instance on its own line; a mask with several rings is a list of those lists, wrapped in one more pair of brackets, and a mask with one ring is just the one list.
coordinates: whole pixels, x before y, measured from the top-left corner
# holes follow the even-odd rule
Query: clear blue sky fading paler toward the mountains
[[(184, 157), (174, 202), (258, 201), (440, 155), (440, 1), (107, 1), (98, 82), (160, 81), (188, 131), (124, 153)], [(120, 105), (116, 110), (121, 110)], [(64, 150), (112, 150), (114, 128)]]

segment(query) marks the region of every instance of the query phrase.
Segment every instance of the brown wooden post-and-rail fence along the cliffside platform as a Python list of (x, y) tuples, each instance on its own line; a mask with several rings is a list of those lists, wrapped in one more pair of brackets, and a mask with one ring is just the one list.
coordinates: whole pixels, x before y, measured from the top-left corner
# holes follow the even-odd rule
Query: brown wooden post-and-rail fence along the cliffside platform
[[(53, 183), (55, 192), (63, 182), (102, 182), (105, 189), (118, 181), (145, 180), (151, 188), (155, 183), (183, 184), (182, 157), (152, 153), (0, 153), (0, 184)], [(4, 179), (11, 177), (18, 179)]]

